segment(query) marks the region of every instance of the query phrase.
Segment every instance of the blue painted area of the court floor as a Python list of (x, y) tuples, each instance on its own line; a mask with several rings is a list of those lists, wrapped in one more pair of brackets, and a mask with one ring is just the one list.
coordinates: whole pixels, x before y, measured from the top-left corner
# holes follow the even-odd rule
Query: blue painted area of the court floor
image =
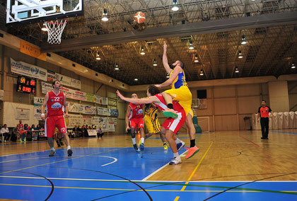
[[(182, 149), (180, 153), (184, 152)], [(296, 200), (296, 182), (144, 180), (172, 157), (163, 147), (74, 148), (0, 157), (0, 198), (14, 200)], [(162, 170), (160, 170), (162, 171)], [(199, 173), (199, 171), (197, 171)], [(174, 179), (174, 178), (173, 178)], [(235, 188), (238, 186), (238, 188)], [(225, 192), (226, 191), (226, 192)]]

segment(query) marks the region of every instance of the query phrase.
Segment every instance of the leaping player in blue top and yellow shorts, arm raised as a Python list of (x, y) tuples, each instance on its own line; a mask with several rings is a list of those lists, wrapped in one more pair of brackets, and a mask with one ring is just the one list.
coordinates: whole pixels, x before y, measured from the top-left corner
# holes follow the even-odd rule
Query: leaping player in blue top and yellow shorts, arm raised
[(170, 75), (169, 79), (163, 82), (162, 84), (157, 84), (157, 87), (164, 87), (171, 85), (171, 89), (166, 90), (162, 93), (163, 98), (167, 104), (168, 110), (164, 111), (163, 114), (166, 117), (173, 117), (176, 118), (176, 113), (173, 110), (173, 100), (179, 101), (180, 105), (182, 105), (182, 108), (184, 108), (186, 113), (186, 125), (187, 130), (189, 132), (190, 136), (190, 149), (187, 153), (187, 156), (185, 156), (186, 159), (191, 158), (199, 151), (199, 148), (195, 145), (195, 127), (192, 122), (193, 117), (193, 111), (192, 111), (192, 93), (190, 89), (187, 86), (187, 82), (185, 81), (185, 71), (184, 63), (177, 60), (171, 65), (171, 68), (168, 64), (168, 58), (167, 58), (167, 45), (164, 42), (164, 48), (163, 48), (163, 66), (166, 70), (166, 72)]

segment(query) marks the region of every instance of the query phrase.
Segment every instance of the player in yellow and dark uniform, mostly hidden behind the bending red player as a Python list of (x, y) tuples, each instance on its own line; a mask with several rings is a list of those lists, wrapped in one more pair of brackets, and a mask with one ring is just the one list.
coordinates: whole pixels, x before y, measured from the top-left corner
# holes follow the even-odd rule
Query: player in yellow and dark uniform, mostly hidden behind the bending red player
[(153, 134), (159, 134), (163, 142), (163, 147), (167, 150), (167, 144), (163, 134), (161, 134), (161, 125), (158, 120), (157, 111), (158, 109), (156, 108), (156, 105), (153, 105), (153, 103), (146, 104), (146, 108), (144, 109), (144, 125), (146, 125), (148, 129), (148, 134), (146, 134), (145, 139), (151, 137)]

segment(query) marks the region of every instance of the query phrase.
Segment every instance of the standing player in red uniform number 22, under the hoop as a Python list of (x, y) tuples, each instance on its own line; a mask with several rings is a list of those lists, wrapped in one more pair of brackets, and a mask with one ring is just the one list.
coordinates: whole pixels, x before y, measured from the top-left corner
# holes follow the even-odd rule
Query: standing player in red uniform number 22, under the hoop
[[(64, 140), (67, 146), (68, 156), (72, 156), (72, 149), (70, 147), (69, 137), (66, 130), (65, 117), (68, 118), (68, 107), (66, 105), (66, 97), (62, 91), (60, 91), (61, 84), (59, 81), (52, 83), (53, 91), (50, 91), (45, 96), (45, 101), (41, 105), (41, 119), (45, 120), (45, 136), (47, 142), (50, 145), (51, 151), (49, 156), (54, 156), (56, 150), (54, 150), (54, 127), (57, 127), (59, 132), (63, 134)], [(47, 117), (45, 118), (45, 107), (47, 108)]]

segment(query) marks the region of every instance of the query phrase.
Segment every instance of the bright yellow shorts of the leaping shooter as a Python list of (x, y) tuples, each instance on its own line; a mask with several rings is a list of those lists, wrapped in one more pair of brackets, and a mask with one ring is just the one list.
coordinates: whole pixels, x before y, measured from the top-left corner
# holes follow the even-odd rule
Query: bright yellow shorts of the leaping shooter
[(164, 92), (175, 97), (173, 98), (173, 100), (179, 101), (180, 105), (182, 105), (182, 108), (184, 108), (186, 115), (190, 113), (190, 115), (192, 115), (193, 117), (192, 93), (187, 86), (181, 86), (180, 88), (171, 88)]

